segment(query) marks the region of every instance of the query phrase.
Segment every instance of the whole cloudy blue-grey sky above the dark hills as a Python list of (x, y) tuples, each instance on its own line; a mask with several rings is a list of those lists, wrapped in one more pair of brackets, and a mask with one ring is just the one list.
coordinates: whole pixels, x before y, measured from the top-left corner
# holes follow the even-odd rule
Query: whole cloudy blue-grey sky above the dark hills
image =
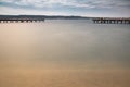
[(130, 0), (0, 0), (0, 14), (130, 16)]

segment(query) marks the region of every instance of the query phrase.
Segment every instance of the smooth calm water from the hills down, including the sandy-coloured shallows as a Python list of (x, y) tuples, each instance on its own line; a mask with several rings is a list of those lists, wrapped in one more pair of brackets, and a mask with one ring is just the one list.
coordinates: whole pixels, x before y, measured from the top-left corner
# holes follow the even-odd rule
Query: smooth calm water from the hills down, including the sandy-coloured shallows
[(128, 87), (130, 25), (0, 24), (0, 69), (1, 87)]

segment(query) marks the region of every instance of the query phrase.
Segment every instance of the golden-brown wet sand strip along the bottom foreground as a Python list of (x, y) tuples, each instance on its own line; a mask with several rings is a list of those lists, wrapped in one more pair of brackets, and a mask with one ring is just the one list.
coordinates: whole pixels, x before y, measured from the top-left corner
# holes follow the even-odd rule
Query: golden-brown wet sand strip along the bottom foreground
[(0, 87), (129, 87), (130, 71), (0, 70)]

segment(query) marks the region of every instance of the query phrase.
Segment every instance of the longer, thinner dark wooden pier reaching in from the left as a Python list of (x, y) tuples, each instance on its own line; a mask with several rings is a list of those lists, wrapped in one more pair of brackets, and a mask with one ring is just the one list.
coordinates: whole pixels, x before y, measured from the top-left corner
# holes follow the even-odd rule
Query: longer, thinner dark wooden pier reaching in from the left
[(0, 18), (0, 23), (38, 23), (44, 22), (44, 18)]

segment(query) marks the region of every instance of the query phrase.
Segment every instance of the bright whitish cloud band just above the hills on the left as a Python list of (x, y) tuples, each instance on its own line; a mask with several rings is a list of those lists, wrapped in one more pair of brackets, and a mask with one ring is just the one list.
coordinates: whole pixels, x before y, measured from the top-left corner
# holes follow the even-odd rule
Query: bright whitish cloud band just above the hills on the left
[(4, 15), (4, 14), (18, 14), (18, 15), (69, 15), (65, 12), (57, 12), (57, 11), (40, 11), (40, 10), (29, 10), (29, 9), (14, 9), (14, 8), (9, 8), (9, 7), (1, 7), (0, 8), (0, 14)]

